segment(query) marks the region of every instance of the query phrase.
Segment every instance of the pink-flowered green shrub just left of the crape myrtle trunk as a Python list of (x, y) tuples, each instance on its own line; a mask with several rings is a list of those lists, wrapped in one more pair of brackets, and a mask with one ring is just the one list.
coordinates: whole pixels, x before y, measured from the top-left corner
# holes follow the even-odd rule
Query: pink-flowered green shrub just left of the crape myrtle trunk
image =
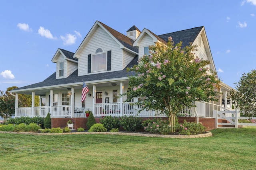
[(144, 130), (150, 133), (160, 133), (163, 135), (168, 135), (172, 131), (172, 129), (170, 128), (169, 120), (163, 120), (161, 118), (145, 120), (143, 121), (142, 125), (144, 126)]

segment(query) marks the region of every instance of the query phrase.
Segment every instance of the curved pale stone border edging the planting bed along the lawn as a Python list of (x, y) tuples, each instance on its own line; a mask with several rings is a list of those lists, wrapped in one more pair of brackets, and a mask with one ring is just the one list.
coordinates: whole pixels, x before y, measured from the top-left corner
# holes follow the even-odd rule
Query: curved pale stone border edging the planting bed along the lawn
[(159, 134), (145, 134), (145, 133), (122, 133), (122, 132), (70, 132), (70, 133), (33, 133), (33, 132), (5, 132), (0, 133), (14, 133), (24, 135), (75, 135), (75, 134), (104, 134), (104, 135), (126, 135), (126, 136), (142, 136), (142, 137), (162, 137), (162, 138), (200, 138), (200, 137), (211, 137), (212, 132), (206, 131), (207, 133), (197, 135), (159, 135)]

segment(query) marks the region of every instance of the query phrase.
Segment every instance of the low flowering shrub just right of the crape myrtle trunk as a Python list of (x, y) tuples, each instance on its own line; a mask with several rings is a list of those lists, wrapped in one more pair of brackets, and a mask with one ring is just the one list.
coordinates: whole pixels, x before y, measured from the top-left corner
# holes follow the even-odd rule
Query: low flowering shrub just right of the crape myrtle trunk
[(187, 122), (184, 120), (182, 124), (176, 125), (175, 131), (180, 135), (195, 135), (203, 133), (205, 129), (206, 128), (202, 125), (201, 122), (197, 124), (196, 122)]

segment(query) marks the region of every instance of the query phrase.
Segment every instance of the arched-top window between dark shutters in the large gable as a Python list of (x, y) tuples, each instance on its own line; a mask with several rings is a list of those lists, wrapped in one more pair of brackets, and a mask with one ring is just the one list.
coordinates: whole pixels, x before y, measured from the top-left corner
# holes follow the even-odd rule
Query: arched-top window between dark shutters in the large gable
[(95, 51), (92, 55), (92, 71), (107, 70), (107, 55), (101, 48)]

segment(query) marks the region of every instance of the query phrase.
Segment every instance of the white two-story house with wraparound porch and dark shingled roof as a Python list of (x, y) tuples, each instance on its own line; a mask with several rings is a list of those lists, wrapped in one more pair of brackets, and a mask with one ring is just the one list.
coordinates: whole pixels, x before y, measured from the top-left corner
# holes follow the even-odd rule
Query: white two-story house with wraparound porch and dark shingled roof
[[(132, 26), (126, 35), (96, 21), (75, 53), (58, 49), (52, 58), (56, 63), (56, 72), (44, 81), (12, 90), (16, 94), (15, 117), (42, 116), (49, 112), (52, 122), (61, 122), (64, 118), (85, 120), (84, 112), (92, 111), (94, 117), (106, 115), (133, 115), (140, 117), (155, 117), (154, 111), (144, 110), (138, 113), (138, 107), (131, 102), (124, 102), (126, 96), (118, 98), (128, 87), (127, 67), (137, 64), (140, 57), (148, 54), (148, 47), (156, 43), (166, 44), (168, 37), (175, 43), (182, 41), (182, 46), (198, 45), (195, 57), (210, 61), (210, 68), (216, 71), (206, 32), (203, 26), (155, 35), (149, 29), (140, 31)], [(89, 88), (87, 100), (81, 102), (83, 81)], [(221, 82), (217, 85), (222, 92), (219, 102), (196, 102), (195, 109), (186, 110), (191, 117), (213, 117), (213, 109), (231, 107), (227, 95), (230, 86)], [(18, 107), (18, 94), (40, 96), (40, 106)], [(32, 100), (33, 101), (33, 100)], [(223, 102), (222, 102), (223, 101)], [(82, 109), (81, 109), (82, 108)], [(77, 113), (81, 109), (82, 113)], [(81, 123), (82, 121), (80, 121)], [(53, 123), (54, 124), (54, 123)], [(53, 126), (57, 126), (57, 124)], [(82, 127), (82, 126), (80, 126)]]

